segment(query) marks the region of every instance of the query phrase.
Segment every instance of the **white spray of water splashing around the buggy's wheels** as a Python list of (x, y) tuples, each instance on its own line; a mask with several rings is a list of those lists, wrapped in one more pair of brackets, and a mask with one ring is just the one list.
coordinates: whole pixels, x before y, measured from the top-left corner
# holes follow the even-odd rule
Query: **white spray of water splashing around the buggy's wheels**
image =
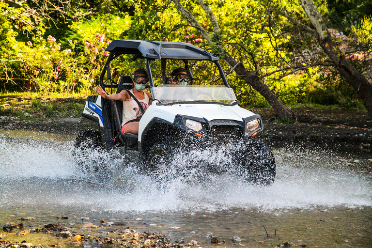
[[(231, 208), (273, 211), (317, 206), (372, 206), (371, 180), (340, 168), (335, 155), (277, 151), (277, 177), (272, 186), (252, 186), (231, 175), (176, 178), (166, 185), (140, 174), (133, 164), (111, 159), (112, 178), (78, 170), (72, 141), (15, 140), (0, 137), (0, 206), (62, 206), (86, 211), (172, 212), (220, 211)], [(225, 153), (195, 151), (190, 156), (231, 158)], [(105, 156), (103, 156), (105, 157)], [(177, 160), (182, 167), (182, 160)], [(195, 178), (195, 180), (193, 180)]]

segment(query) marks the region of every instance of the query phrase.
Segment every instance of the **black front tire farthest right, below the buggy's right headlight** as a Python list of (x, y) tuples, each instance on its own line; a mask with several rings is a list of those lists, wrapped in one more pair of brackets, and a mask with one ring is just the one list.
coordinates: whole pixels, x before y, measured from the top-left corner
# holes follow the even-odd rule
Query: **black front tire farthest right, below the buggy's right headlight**
[(240, 159), (238, 175), (255, 185), (269, 186), (276, 175), (275, 158), (271, 149), (262, 142), (255, 141), (245, 146), (244, 156)]

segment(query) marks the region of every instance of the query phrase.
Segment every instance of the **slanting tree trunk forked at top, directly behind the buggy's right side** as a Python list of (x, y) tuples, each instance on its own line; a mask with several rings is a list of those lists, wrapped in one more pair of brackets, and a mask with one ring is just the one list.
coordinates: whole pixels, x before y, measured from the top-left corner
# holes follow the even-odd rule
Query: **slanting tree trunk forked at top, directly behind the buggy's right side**
[[(199, 33), (203, 36), (205, 40), (209, 43), (212, 43), (212, 38), (204, 28), (200, 25), (200, 23), (196, 20), (195, 16), (191, 14), (182, 4), (180, 0), (172, 0), (177, 7), (177, 9), (182, 13), (182, 15), (187, 19), (187, 21), (196, 27)], [(203, 0), (198, 0), (199, 4), (202, 6), (203, 10), (209, 16), (211, 23), (213, 25), (214, 34), (218, 36), (219, 34), (219, 27), (218, 22), (213, 12), (209, 9), (208, 5), (204, 3)], [(233, 56), (231, 56), (223, 47), (216, 45), (218, 50), (223, 51), (224, 58), (223, 60), (227, 62), (232, 68), (235, 68), (235, 72), (242, 77), (245, 82), (250, 85), (254, 90), (258, 91), (266, 100), (267, 102), (273, 107), (275, 114), (278, 118), (294, 118), (294, 115), (289, 111), (286, 106), (279, 100), (278, 96), (275, 95), (266, 84), (264, 84), (256, 75), (249, 72), (247, 68), (243, 65), (243, 63), (237, 62)], [(239, 63), (239, 64), (238, 64)]]

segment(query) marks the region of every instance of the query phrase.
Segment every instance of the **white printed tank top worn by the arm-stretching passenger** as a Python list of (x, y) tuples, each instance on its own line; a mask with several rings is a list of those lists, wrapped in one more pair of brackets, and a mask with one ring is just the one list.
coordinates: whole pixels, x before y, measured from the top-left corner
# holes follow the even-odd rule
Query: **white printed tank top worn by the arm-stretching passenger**
[[(133, 90), (129, 90), (130, 93), (133, 93)], [(143, 92), (143, 91), (142, 91)], [(140, 100), (140, 99), (137, 99), (140, 104), (142, 105), (142, 108), (143, 110), (146, 111), (147, 108), (149, 108), (149, 96), (143, 92), (143, 94), (145, 95), (145, 98)], [(138, 106), (137, 102), (132, 98), (130, 97), (129, 100), (126, 100), (126, 101), (123, 101), (123, 122), (122, 122), (122, 126), (124, 126), (125, 123), (127, 123), (128, 121), (130, 120), (134, 120), (134, 119), (140, 119), (142, 117), (142, 111), (140, 109), (140, 107)]]

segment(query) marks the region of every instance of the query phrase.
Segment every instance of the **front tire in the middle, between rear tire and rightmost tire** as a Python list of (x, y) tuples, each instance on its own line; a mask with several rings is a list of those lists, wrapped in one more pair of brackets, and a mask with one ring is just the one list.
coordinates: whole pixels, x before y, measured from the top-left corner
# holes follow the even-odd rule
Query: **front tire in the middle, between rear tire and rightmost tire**
[(171, 158), (168, 145), (153, 145), (145, 163), (146, 173), (156, 182), (169, 181), (171, 179)]

